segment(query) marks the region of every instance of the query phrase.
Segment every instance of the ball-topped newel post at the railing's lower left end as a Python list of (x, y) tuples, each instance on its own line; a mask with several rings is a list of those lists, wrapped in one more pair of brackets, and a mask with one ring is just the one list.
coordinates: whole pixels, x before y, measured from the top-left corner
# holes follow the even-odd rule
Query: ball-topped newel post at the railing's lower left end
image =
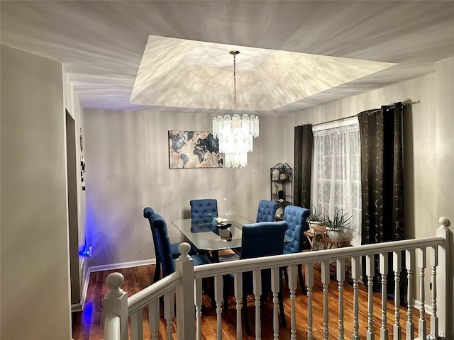
[[(109, 286), (109, 292), (102, 301), (102, 309), (104, 324), (108, 315), (115, 314), (120, 317), (120, 339), (128, 340), (128, 293), (120, 288), (124, 280), (125, 278), (121, 273), (110, 273), (107, 276), (106, 283)], [(111, 331), (105, 328), (104, 337), (109, 339)], [(113, 336), (113, 339), (118, 339), (115, 334), (111, 336)]]

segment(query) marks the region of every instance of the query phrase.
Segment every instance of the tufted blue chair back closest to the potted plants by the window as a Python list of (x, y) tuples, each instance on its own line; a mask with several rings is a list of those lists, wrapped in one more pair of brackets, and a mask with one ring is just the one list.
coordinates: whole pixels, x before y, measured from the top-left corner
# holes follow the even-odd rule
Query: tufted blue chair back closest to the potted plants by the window
[(284, 221), (287, 222), (289, 229), (286, 230), (286, 239), (291, 242), (284, 243), (284, 254), (298, 253), (303, 250), (305, 241), (304, 232), (309, 229), (306, 217), (309, 216), (309, 209), (287, 205), (284, 209)]

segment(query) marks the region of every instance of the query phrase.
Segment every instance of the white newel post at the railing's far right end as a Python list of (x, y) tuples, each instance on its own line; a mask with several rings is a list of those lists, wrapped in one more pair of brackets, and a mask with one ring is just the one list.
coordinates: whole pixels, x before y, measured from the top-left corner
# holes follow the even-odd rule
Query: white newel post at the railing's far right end
[[(450, 264), (449, 264), (449, 252), (451, 244), (451, 234), (448, 229), (450, 221), (447, 217), (440, 217), (438, 220), (440, 227), (437, 229), (437, 236), (444, 237), (445, 244), (443, 246), (438, 246), (438, 266), (436, 269), (436, 314), (438, 315), (438, 334), (433, 334), (434, 336), (441, 336), (445, 338), (450, 334), (450, 303), (452, 303), (452, 297), (450, 297), (452, 290), (452, 278), (450, 278)], [(449, 300), (451, 299), (451, 300)], [(434, 325), (437, 326), (437, 325)]]

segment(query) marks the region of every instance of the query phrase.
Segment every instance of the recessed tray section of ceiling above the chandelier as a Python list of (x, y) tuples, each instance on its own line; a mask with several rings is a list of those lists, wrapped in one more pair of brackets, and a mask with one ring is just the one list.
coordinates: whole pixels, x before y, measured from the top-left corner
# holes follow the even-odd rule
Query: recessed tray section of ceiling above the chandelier
[(392, 67), (340, 57), (175, 38), (148, 38), (131, 103), (185, 108), (273, 111)]

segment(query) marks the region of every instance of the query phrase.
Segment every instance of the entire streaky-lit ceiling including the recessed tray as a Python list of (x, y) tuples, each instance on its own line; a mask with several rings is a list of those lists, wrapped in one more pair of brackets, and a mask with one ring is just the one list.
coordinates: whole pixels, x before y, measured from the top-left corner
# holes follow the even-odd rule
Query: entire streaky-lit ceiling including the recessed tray
[[(241, 66), (242, 54), (237, 57), (238, 111), (258, 115), (301, 111), (420, 77), (454, 57), (453, 1), (1, 1), (0, 6), (1, 43), (62, 62), (82, 106), (92, 109), (231, 111), (233, 59), (206, 64), (216, 53), (229, 60), (231, 47), (243, 48), (244, 55), (267, 50), (261, 51), (266, 56), (254, 54), (260, 58), (254, 67), (246, 60)], [(178, 57), (178, 50), (167, 49), (170, 42), (188, 40), (198, 41), (195, 50), (201, 51), (213, 43), (217, 52)], [(312, 61), (292, 64), (279, 57), (281, 51)], [(184, 59), (185, 71), (179, 73), (176, 59)], [(381, 63), (369, 67), (365, 61)]]

